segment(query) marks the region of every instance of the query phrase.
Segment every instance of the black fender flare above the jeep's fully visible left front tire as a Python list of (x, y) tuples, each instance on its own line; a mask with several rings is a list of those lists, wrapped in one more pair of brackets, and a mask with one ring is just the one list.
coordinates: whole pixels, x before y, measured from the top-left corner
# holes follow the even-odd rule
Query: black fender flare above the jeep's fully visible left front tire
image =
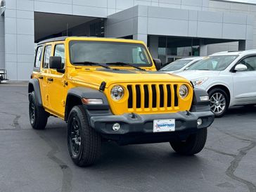
[[(82, 104), (82, 98), (101, 98), (103, 104), (82, 104), (84, 109), (87, 112), (88, 118), (91, 117), (90, 111), (109, 111), (110, 106), (108, 103), (108, 98), (105, 96), (103, 91), (92, 89), (89, 87), (75, 87), (68, 91), (66, 103), (65, 103), (65, 121), (68, 120), (68, 115), (70, 113), (70, 102), (72, 100), (70, 98), (77, 98), (79, 102)], [(71, 104), (72, 105), (72, 104)]]

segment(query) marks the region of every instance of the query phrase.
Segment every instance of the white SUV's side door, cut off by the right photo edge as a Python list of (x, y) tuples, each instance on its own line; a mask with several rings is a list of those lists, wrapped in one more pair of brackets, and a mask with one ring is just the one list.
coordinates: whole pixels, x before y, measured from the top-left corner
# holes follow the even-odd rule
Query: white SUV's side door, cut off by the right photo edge
[(247, 70), (233, 72), (233, 96), (236, 104), (256, 103), (256, 55), (240, 60)]

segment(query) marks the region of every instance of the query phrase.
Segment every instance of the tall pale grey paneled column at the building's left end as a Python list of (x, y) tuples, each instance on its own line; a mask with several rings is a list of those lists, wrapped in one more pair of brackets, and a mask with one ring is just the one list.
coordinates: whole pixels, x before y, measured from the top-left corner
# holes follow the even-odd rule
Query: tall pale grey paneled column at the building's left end
[(27, 80), (34, 65), (34, 1), (6, 1), (4, 27), (8, 79)]

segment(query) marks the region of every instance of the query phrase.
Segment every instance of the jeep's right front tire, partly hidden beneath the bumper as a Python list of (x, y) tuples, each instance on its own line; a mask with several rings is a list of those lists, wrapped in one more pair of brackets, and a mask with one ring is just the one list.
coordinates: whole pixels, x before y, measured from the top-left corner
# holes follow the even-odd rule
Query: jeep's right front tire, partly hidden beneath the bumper
[(185, 141), (170, 142), (174, 151), (181, 155), (194, 155), (202, 151), (207, 139), (207, 128), (198, 129), (196, 134), (191, 134)]

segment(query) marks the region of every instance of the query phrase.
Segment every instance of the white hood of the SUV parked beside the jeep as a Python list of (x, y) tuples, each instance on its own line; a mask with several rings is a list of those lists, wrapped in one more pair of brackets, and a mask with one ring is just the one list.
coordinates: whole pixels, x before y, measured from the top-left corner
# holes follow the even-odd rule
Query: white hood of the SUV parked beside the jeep
[(175, 72), (175, 75), (179, 75), (188, 80), (192, 80), (192, 79), (198, 79), (201, 77), (212, 77), (215, 75), (219, 75), (219, 72), (220, 71), (214, 71), (214, 70), (184, 70), (181, 72)]

